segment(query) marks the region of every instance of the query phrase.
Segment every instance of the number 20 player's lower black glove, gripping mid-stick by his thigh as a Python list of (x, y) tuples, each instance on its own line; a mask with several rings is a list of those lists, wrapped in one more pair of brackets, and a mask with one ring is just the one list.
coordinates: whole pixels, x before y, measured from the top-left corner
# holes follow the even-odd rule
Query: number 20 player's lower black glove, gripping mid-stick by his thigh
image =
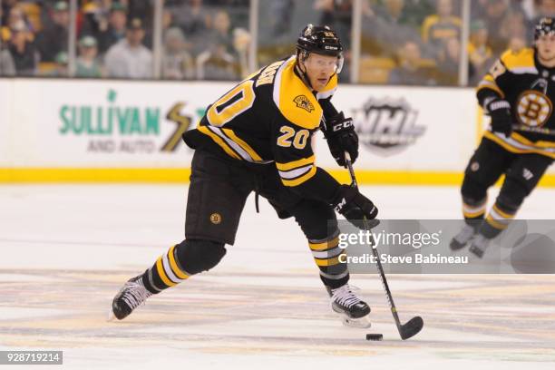
[(358, 189), (348, 185), (341, 185), (333, 206), (359, 229), (365, 229), (363, 219), (375, 219), (377, 216), (377, 208), (372, 200), (367, 199)]

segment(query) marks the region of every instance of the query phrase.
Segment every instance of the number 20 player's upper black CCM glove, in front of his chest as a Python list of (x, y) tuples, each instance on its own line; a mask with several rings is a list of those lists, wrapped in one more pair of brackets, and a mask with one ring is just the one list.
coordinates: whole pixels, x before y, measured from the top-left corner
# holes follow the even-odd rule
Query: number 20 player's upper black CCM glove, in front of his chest
[(324, 130), (327, 146), (339, 166), (346, 167), (345, 152), (351, 155), (351, 161), (355, 163), (358, 157), (358, 135), (355, 132), (352, 118), (345, 118), (343, 112), (326, 122)]

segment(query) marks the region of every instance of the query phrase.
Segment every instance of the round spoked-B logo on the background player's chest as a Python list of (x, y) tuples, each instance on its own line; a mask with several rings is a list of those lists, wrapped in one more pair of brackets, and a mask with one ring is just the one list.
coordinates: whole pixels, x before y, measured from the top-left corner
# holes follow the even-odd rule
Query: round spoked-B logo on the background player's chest
[(517, 100), (517, 118), (530, 127), (541, 127), (550, 118), (553, 105), (544, 93), (527, 90)]

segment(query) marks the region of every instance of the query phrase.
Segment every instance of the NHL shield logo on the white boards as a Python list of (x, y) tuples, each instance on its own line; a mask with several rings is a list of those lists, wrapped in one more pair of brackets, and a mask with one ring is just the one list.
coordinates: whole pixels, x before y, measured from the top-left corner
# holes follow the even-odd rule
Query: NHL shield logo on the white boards
[(418, 112), (403, 99), (370, 98), (362, 109), (353, 112), (359, 140), (382, 155), (403, 151), (424, 134), (417, 126)]

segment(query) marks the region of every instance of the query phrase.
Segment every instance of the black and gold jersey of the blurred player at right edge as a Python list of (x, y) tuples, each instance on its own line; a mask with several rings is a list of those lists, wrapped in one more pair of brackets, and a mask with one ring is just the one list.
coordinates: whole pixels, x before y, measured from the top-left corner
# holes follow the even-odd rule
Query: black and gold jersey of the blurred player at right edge
[[(478, 85), (478, 100), (482, 104), (488, 97), (499, 97), (511, 104), (515, 124), (555, 129), (553, 97), (555, 97), (555, 68), (543, 67), (532, 48), (519, 52), (511, 50), (501, 54), (489, 73)], [(504, 134), (484, 132), (484, 136), (497, 142), (507, 151), (538, 153), (555, 158), (555, 138), (526, 131)]]

